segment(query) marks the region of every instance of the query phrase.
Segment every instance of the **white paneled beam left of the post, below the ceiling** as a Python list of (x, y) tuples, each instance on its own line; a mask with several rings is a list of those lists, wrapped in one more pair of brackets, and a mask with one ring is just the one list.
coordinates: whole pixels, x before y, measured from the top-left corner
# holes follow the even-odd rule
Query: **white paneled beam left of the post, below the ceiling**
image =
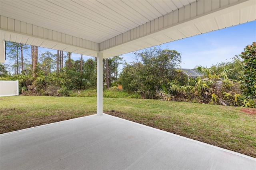
[(5, 16), (0, 16), (0, 36), (5, 41), (39, 45), (40, 47), (50, 47), (52, 49), (60, 47), (61, 49), (69, 49), (69, 52), (82, 49), (80, 50), (84, 51), (82, 54), (94, 54), (94, 57), (96, 57), (97, 51), (99, 51), (98, 43)]

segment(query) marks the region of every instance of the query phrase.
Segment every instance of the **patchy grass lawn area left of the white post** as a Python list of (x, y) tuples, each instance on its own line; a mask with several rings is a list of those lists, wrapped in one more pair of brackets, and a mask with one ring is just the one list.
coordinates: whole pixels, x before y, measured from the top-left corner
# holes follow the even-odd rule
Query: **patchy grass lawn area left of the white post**
[(96, 98), (19, 96), (0, 99), (0, 133), (96, 114)]

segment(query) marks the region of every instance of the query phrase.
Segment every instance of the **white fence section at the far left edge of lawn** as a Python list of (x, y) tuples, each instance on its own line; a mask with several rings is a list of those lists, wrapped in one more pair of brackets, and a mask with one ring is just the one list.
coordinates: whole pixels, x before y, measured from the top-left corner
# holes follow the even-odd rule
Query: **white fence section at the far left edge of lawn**
[(0, 81), (0, 97), (2, 96), (18, 96), (19, 81)]

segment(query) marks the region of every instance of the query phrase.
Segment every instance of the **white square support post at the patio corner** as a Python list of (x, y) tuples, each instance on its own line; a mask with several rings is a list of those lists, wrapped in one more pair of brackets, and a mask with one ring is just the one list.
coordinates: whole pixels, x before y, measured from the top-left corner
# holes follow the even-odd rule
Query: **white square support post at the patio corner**
[(103, 115), (103, 53), (97, 53), (97, 115)]

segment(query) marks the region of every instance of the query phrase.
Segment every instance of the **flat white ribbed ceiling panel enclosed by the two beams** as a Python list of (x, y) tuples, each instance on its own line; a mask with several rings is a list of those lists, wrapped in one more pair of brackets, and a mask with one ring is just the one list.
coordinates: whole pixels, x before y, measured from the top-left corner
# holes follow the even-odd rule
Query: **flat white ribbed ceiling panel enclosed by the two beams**
[(2, 16), (96, 43), (195, 0), (1, 0)]

